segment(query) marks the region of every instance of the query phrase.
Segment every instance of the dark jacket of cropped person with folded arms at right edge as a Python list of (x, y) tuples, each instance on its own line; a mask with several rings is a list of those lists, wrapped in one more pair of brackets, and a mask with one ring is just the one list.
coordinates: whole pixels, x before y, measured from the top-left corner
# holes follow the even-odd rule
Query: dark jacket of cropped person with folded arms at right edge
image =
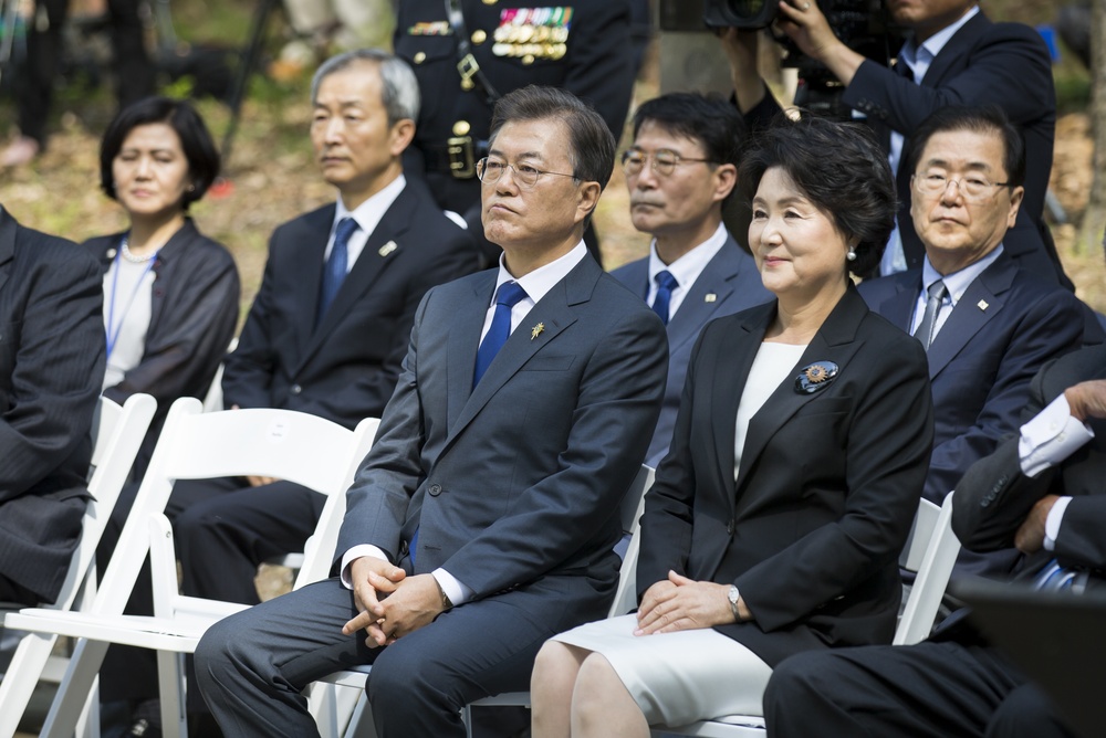
[[(1047, 363), (1033, 379), (1022, 419), (1031, 420), (1065, 389), (1092, 379), (1106, 379), (1106, 347), (1084, 348)], [(1023, 556), (1018, 571), (1031, 577), (1055, 557), (1100, 580), (1106, 571), (1106, 420), (1093, 418), (1088, 425), (1094, 439), (1035, 477), (1022, 473), (1018, 434), (972, 465), (952, 498), (952, 529), (960, 541), (979, 551), (1011, 548), (1039, 499), (1072, 496), (1055, 550)]]

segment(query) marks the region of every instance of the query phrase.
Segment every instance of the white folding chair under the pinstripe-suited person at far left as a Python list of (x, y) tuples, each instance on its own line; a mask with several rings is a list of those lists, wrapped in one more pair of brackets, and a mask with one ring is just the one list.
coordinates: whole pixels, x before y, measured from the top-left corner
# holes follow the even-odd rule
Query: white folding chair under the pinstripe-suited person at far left
[[(92, 422), (90, 499), (82, 520), (81, 539), (70, 559), (61, 592), (45, 610), (63, 612), (91, 605), (96, 592), (96, 546), (156, 410), (157, 402), (148, 394), (133, 394), (122, 408), (100, 398)], [(15, 609), (18, 607), (10, 612)], [(7, 618), (4, 626), (10, 628)], [(65, 660), (50, 655), (56, 641), (58, 636), (50, 633), (29, 633), (20, 640), (8, 667), (8, 678), (0, 682), (0, 736), (11, 736), (15, 731), (40, 679), (60, 681)]]

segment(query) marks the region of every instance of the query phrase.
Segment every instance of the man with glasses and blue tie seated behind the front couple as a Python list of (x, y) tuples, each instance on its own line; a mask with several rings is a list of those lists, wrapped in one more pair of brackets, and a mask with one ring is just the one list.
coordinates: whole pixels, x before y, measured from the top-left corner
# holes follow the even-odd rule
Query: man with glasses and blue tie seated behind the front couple
[(708, 320), (766, 303), (752, 256), (722, 224), (738, 177), (744, 125), (721, 97), (671, 93), (634, 114), (623, 154), (634, 228), (653, 235), (649, 255), (614, 272), (668, 326), (665, 405), (645, 463), (668, 453), (691, 347)]

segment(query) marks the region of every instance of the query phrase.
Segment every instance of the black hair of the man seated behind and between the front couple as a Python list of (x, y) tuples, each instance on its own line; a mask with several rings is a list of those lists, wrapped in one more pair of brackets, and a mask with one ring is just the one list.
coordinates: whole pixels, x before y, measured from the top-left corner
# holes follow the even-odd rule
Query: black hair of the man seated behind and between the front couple
[(718, 93), (679, 92), (654, 97), (634, 113), (634, 138), (646, 123), (698, 141), (712, 164), (740, 164), (745, 124), (738, 108)]

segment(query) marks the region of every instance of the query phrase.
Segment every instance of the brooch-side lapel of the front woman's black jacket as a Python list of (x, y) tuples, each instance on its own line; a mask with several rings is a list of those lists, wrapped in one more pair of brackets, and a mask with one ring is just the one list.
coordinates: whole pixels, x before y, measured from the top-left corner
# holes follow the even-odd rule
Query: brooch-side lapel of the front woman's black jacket
[[(848, 359), (856, 351), (857, 328), (867, 313), (868, 308), (864, 304), (864, 299), (851, 286), (814, 335), (810, 346), (803, 351), (803, 357), (799, 360), (792, 375), (780, 383), (768, 401), (757, 411), (757, 414), (750, 419), (745, 445), (741, 452), (741, 468), (738, 472), (737, 495), (734, 496), (735, 500), (741, 500), (742, 507), (749, 504), (749, 499), (744, 499), (743, 493), (750, 477), (749, 471), (763, 454), (769, 441), (791, 420), (792, 415), (799, 412), (800, 408), (817, 397), (817, 393), (796, 392), (794, 376), (808, 363), (822, 360), (833, 361), (842, 372), (847, 371)], [(729, 422), (732, 426), (733, 417), (730, 418)], [(754, 499), (755, 491), (751, 491), (750, 494), (753, 495), (750, 499)]]

